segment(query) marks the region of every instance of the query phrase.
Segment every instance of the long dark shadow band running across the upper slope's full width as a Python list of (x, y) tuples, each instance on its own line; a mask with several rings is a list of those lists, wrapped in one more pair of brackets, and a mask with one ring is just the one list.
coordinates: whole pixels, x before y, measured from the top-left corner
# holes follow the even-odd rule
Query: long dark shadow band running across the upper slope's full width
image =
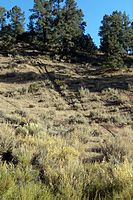
[(70, 91), (79, 91), (79, 89), (83, 87), (89, 89), (90, 92), (101, 92), (107, 88), (127, 90), (129, 84), (133, 85), (133, 75), (122, 74), (106, 76), (106, 74), (104, 74), (104, 76), (94, 76), (88, 71), (88, 73), (90, 73), (88, 77), (87, 70), (85, 70), (83, 75), (73, 76), (68, 75), (62, 70), (61, 66), (57, 65), (56, 67), (60, 68), (60, 70), (58, 69), (58, 71), (55, 71), (55, 68), (53, 68), (52, 71), (49, 71), (47, 65), (41, 64), (38, 67), (40, 74), (35, 72), (13, 72), (2, 74), (0, 75), (0, 82), (22, 84), (33, 81), (50, 80), (58, 90), (61, 85), (58, 85), (57, 82), (60, 81), (61, 84), (63, 81), (63, 84), (66, 85), (67, 89)]

